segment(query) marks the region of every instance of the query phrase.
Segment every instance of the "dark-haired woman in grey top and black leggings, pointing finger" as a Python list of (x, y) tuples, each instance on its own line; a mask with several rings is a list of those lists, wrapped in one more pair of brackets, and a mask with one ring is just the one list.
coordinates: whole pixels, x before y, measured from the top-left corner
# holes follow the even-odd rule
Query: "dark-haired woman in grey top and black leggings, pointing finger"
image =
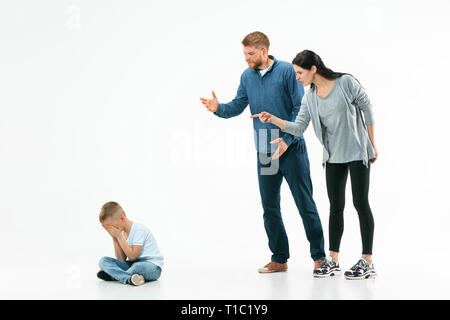
[[(351, 75), (334, 72), (310, 50), (292, 61), (303, 86), (311, 85), (304, 95), (295, 122), (282, 120), (268, 112), (252, 115), (270, 122), (284, 132), (301, 136), (313, 124), (323, 145), (323, 162), (330, 200), (330, 255), (314, 270), (316, 277), (339, 274), (339, 245), (344, 231), (345, 186), (350, 172), (353, 204), (358, 211), (362, 238), (362, 256), (345, 272), (347, 279), (375, 276), (372, 263), (374, 221), (368, 201), (370, 166), (378, 157), (374, 139), (374, 121), (370, 101), (359, 82)], [(364, 118), (362, 116), (364, 114)], [(270, 143), (277, 143), (279, 139)]]

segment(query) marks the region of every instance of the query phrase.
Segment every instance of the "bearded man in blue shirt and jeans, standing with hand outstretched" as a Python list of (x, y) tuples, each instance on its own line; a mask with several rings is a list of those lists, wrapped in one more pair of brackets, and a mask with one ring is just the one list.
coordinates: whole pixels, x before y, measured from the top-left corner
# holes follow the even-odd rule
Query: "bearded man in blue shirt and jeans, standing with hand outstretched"
[[(205, 107), (221, 118), (241, 114), (250, 104), (252, 114), (267, 111), (294, 121), (300, 109), (303, 86), (296, 80), (292, 65), (268, 55), (269, 39), (262, 32), (252, 32), (243, 40), (246, 69), (236, 97), (219, 103), (214, 91), (212, 99), (200, 98)], [(253, 119), (257, 149), (259, 191), (264, 209), (264, 227), (272, 251), (271, 262), (258, 271), (271, 273), (287, 270), (289, 244), (280, 211), (280, 187), (286, 179), (303, 220), (314, 269), (325, 257), (322, 224), (312, 197), (309, 159), (303, 136), (281, 132), (271, 123)], [(280, 137), (280, 133), (282, 136)], [(278, 148), (273, 152), (274, 147)]]

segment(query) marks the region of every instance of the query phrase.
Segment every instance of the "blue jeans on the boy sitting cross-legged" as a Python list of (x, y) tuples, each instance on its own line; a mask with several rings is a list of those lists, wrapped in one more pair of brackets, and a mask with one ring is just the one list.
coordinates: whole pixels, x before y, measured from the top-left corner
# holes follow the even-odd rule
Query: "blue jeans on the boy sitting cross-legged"
[(146, 281), (157, 280), (161, 275), (161, 267), (149, 260), (122, 261), (103, 257), (98, 265), (101, 270), (123, 284), (135, 273), (144, 276)]

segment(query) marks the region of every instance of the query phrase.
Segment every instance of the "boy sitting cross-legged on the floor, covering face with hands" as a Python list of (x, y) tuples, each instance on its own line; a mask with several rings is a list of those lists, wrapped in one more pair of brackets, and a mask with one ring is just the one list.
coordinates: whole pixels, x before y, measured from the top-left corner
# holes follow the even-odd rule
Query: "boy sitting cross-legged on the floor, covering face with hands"
[(134, 286), (157, 280), (164, 259), (150, 230), (129, 220), (122, 207), (113, 201), (103, 205), (99, 218), (113, 239), (117, 259), (101, 258), (97, 277)]

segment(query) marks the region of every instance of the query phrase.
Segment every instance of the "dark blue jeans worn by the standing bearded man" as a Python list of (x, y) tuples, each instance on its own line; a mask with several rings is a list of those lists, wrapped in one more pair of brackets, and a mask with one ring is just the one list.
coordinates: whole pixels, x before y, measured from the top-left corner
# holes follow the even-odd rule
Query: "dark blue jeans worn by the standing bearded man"
[[(306, 237), (310, 243), (313, 260), (323, 259), (324, 239), (322, 223), (313, 199), (313, 187), (309, 171), (308, 152), (303, 138), (293, 141), (278, 160), (264, 164), (266, 154), (258, 153), (258, 182), (261, 202), (264, 209), (264, 227), (269, 238), (272, 261), (285, 263), (289, 259), (289, 243), (280, 210), (280, 188), (283, 177), (286, 179), (295, 204), (303, 220)], [(264, 174), (261, 169), (277, 168), (274, 174)], [(262, 162), (262, 163), (261, 163)]]

